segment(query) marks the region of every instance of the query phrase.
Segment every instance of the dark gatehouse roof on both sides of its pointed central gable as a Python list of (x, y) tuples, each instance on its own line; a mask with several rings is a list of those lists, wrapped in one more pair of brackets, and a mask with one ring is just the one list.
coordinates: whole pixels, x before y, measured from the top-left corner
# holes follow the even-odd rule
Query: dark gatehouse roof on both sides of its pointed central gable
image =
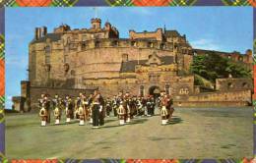
[[(148, 60), (132, 60), (127, 62), (122, 62), (121, 65), (121, 73), (134, 73), (136, 65), (146, 65)], [(163, 56), (160, 57), (160, 61), (162, 62), (162, 65), (170, 65), (174, 63), (172, 56)]]

